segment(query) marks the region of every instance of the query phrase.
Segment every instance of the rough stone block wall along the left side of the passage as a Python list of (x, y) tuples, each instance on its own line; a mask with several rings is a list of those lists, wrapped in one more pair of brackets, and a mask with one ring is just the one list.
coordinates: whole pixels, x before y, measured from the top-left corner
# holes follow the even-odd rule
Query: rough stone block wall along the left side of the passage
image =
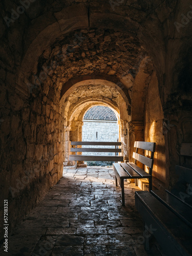
[(0, 180), (1, 202), (9, 201), (11, 228), (62, 177), (63, 117), (49, 93), (26, 99), (7, 95), (4, 108), (9, 111), (3, 115), (0, 134), (1, 145), (6, 144), (0, 148)]

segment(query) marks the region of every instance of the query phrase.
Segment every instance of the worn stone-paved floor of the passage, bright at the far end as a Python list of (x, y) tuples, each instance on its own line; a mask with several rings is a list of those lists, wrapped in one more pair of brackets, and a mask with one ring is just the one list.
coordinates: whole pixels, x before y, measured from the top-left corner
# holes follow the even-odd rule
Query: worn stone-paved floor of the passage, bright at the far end
[(144, 250), (138, 187), (125, 185), (122, 207), (111, 167), (65, 167), (63, 176), (15, 228), (5, 255), (161, 255), (155, 242)]

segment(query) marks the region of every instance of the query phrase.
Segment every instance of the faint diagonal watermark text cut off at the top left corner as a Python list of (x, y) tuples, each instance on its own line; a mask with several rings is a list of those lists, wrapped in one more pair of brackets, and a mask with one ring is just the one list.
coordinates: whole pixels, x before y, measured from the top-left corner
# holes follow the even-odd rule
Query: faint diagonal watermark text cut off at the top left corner
[(31, 3), (34, 3), (36, 0), (20, 0), (19, 5), (15, 10), (11, 9), (11, 18), (5, 16), (4, 20), (7, 25), (7, 27), (10, 27), (10, 23), (14, 23), (16, 19), (19, 18), (21, 14), (25, 12), (26, 9), (28, 9), (31, 5)]

